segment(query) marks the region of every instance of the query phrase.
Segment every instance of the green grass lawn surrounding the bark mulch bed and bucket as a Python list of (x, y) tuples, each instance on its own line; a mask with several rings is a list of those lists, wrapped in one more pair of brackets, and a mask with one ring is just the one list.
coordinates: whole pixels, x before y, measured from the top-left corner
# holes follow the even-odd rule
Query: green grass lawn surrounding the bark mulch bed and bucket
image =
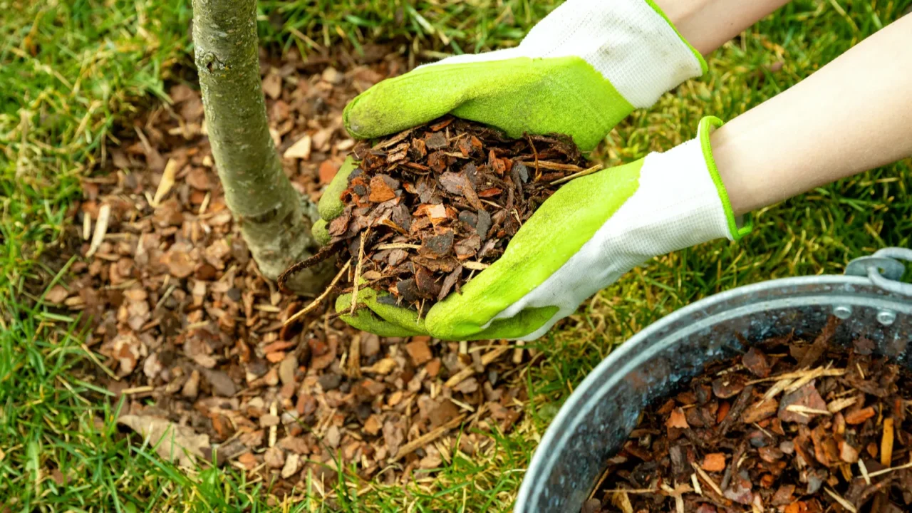
[[(513, 45), (556, 4), (266, 0), (259, 20), (273, 55), (395, 40), (409, 62), (420, 62)], [(0, 5), (0, 511), (509, 510), (549, 420), (614, 345), (720, 290), (840, 273), (854, 257), (912, 242), (910, 159), (762, 209), (740, 243), (658, 257), (539, 340), (544, 358), (526, 374), (522, 423), (492, 451), (454, 457), (430, 483), (343, 482), (332, 504), (315, 496), (282, 503), (233, 470), (188, 474), (137, 437), (130, 444), (114, 436), (119, 404), (79, 377), (96, 358), (83, 345), (88, 319), (42, 301), (80, 258), (65, 237), (80, 179), (110, 158), (120, 129), (169, 101), (166, 85), (192, 61), (189, 2)], [(635, 112), (593, 158), (630, 162), (693, 137), (704, 115), (730, 120), (910, 7), (912, 0), (795, 1), (711, 55), (704, 77)], [(75, 477), (65, 482), (61, 472)]]

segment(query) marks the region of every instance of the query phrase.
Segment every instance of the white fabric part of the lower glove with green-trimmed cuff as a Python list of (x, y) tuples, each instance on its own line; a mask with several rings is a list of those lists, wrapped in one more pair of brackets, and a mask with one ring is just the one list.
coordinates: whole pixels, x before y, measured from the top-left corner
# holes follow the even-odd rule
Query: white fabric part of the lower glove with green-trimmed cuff
[(523, 337), (537, 339), (586, 298), (649, 258), (747, 234), (751, 226), (737, 224), (712, 159), (710, 131), (720, 125), (717, 118), (704, 118), (695, 139), (668, 152), (649, 153), (637, 191), (564, 266), (494, 319), (512, 318), (523, 309), (558, 307), (544, 326)]

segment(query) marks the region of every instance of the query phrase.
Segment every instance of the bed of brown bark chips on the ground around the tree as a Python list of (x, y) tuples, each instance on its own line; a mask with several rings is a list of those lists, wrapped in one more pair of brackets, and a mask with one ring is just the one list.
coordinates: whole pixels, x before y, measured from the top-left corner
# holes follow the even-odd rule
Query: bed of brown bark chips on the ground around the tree
[[(342, 127), (347, 101), (406, 70), (386, 48), (366, 50), (263, 56), (276, 146), (314, 201), (356, 144)], [(199, 456), (181, 465), (217, 449), (220, 465), (279, 496), (309, 479), (331, 497), (337, 462), (401, 484), (415, 469), (489, 450), (484, 433), (495, 427), (512, 429), (527, 400), (523, 373), (541, 353), (503, 340), (380, 339), (324, 308), (283, 340), (283, 323), (309, 299), (258, 274), (224, 204), (199, 93), (182, 84), (170, 93), (173, 105), (145, 113), (107, 149), (108, 173), (83, 181), (68, 234), (80, 256), (74, 278), (47, 295), (60, 313), (90, 319), (87, 346), (99, 356), (82, 379), (126, 398), (120, 435), (175, 427)]]

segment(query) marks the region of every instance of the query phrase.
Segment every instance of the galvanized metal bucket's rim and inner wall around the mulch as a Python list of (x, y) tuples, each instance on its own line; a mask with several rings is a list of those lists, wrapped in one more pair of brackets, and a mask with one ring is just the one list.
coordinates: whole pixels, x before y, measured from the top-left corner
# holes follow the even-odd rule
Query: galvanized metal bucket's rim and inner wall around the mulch
[(668, 315), (598, 364), (554, 417), (516, 499), (518, 513), (576, 513), (606, 458), (648, 403), (709, 361), (791, 331), (813, 337), (830, 315), (834, 337), (876, 342), (876, 351), (912, 367), (912, 285), (900, 283), (912, 251), (887, 248), (854, 260), (844, 276), (790, 277), (734, 288)]

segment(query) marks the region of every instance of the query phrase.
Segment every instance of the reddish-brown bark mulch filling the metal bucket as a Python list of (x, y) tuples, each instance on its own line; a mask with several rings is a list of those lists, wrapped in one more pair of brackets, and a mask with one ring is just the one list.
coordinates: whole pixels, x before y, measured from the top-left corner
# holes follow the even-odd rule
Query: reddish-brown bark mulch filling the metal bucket
[(912, 510), (912, 373), (834, 330), (766, 340), (648, 406), (583, 511)]

